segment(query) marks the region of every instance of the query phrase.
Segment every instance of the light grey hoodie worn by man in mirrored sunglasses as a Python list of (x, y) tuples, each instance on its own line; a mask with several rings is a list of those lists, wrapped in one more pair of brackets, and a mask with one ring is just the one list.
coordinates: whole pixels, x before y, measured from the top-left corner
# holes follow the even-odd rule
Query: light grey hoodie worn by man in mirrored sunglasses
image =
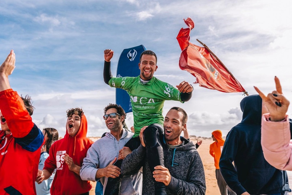
[[(118, 158), (119, 150), (132, 138), (134, 134), (126, 131), (123, 128), (123, 134), (119, 141), (110, 133), (107, 132), (103, 138), (95, 141), (88, 149), (86, 158), (84, 158), (80, 170), (82, 180), (98, 181), (95, 179), (95, 174), (98, 168), (105, 168), (109, 163)], [(98, 168), (97, 168), (98, 167)], [(107, 184), (107, 177), (100, 178), (103, 184), (103, 192)], [(120, 195), (140, 195), (142, 194), (142, 174), (137, 171), (134, 175), (124, 176), (121, 181)]]

